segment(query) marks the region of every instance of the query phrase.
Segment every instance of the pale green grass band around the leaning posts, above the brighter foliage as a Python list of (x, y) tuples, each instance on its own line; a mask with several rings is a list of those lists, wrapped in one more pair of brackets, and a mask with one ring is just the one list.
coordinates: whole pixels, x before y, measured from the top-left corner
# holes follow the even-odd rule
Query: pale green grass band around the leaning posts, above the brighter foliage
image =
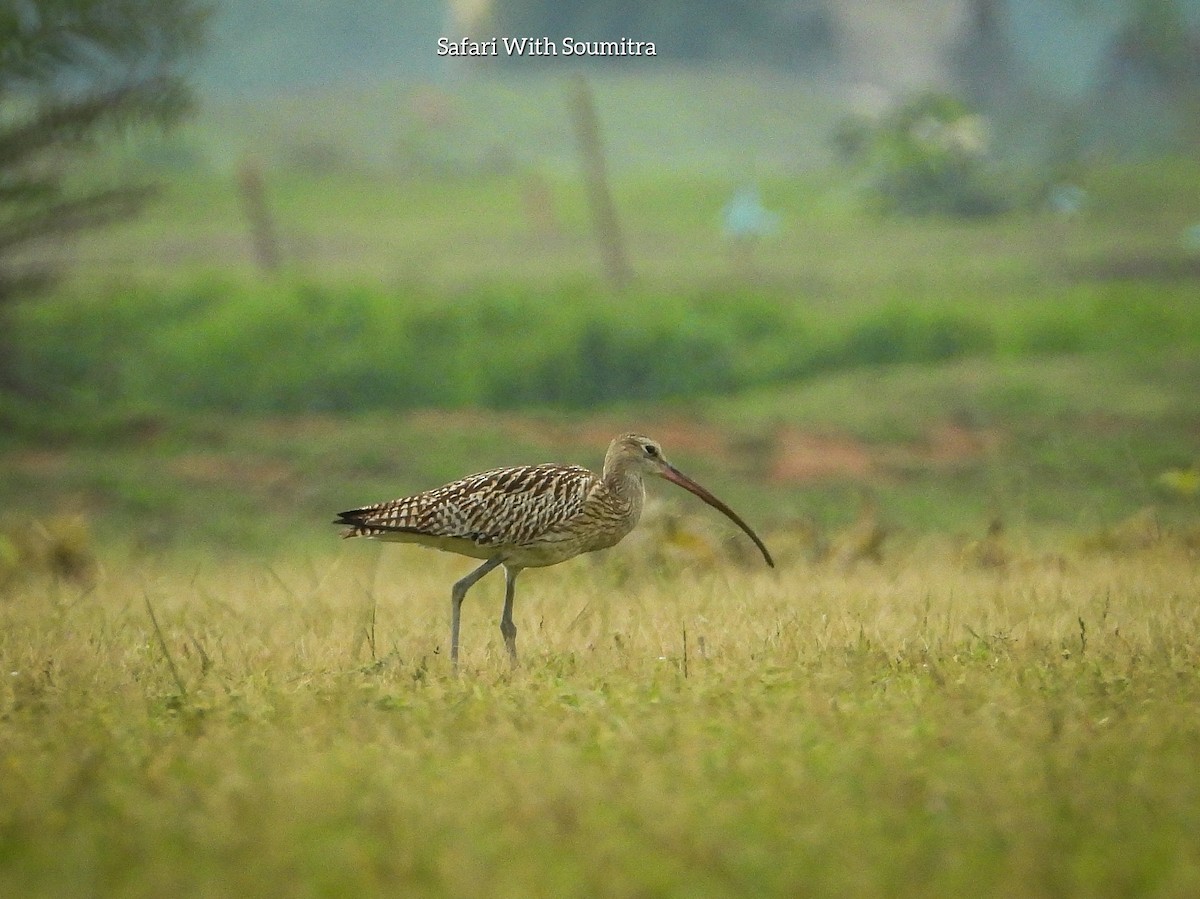
[[(289, 276), (449, 295), (600, 276), (574, 169), (262, 169)], [(767, 284), (856, 310), (914, 292), (942, 301), (1013, 299), (1064, 283), (1186, 280), (1195, 274), (1194, 256), (1180, 236), (1200, 216), (1196, 169), (1189, 158), (1100, 162), (1074, 179), (1086, 191), (1082, 215), (1052, 215), (1030, 197), (1021, 215), (974, 221), (864, 216), (862, 185), (835, 167), (692, 172), (667, 160), (653, 172), (614, 174), (612, 188), (640, 283), (671, 292)], [(163, 178), (148, 216), (79, 241), (84, 284), (253, 278), (235, 169)], [(749, 265), (721, 233), (722, 209), (748, 182), (781, 216)]]

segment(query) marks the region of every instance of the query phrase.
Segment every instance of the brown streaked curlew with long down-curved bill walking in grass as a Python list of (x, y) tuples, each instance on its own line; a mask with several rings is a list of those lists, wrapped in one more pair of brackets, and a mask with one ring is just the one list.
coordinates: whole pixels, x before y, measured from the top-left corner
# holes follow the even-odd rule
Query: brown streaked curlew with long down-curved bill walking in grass
[(517, 575), (620, 543), (641, 517), (647, 477), (677, 484), (726, 515), (754, 541), (767, 564), (775, 567), (767, 546), (737, 513), (671, 465), (658, 440), (635, 433), (612, 440), (600, 474), (558, 463), (493, 468), (421, 493), (338, 513), (334, 523), (344, 526), (343, 538), (419, 544), (482, 559), (450, 592), (450, 663), (455, 669), (467, 591), (503, 567), (500, 634), (509, 660), (516, 665), (512, 600)]

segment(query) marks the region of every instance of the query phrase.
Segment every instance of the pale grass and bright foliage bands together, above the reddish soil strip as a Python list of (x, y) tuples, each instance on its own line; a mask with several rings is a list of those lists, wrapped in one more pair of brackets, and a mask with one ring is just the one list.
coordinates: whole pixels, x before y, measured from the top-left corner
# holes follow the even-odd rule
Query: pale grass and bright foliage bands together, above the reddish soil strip
[[(234, 239), (248, 262), (246, 226), (232, 185), (181, 179), (160, 218), (95, 242), (118, 257), (148, 247), (142, 274), (85, 271), (60, 302), (18, 310), (8, 366), (42, 396), (104, 407), (352, 413), (588, 408), (863, 366), (1194, 353), (1198, 263), (1180, 234), (1195, 176), (1186, 162), (1098, 169), (1081, 179), (1086, 215), (967, 226), (847, 217), (815, 179), (776, 179), (767, 202), (786, 226), (746, 258), (721, 244), (720, 180), (632, 176), (620, 193), (640, 278), (622, 296), (596, 286), (565, 182), (544, 184), (557, 224), (539, 235), (517, 176), (284, 176), (271, 191), (283, 230), (310, 233), (286, 241), (289, 274), (262, 280), (236, 258), (220, 275), (202, 263)], [(184, 233), (191, 259), (175, 257)], [(347, 254), (358, 242), (342, 234), (367, 242)], [(408, 260), (386, 265), (390, 247)]]

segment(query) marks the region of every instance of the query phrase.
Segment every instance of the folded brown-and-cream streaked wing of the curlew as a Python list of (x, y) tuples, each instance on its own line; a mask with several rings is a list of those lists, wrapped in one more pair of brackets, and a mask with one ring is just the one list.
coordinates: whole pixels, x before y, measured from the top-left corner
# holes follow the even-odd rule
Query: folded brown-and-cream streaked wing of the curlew
[(596, 477), (578, 466), (496, 468), (424, 493), (341, 513), (346, 537), (409, 533), (520, 546), (578, 515)]

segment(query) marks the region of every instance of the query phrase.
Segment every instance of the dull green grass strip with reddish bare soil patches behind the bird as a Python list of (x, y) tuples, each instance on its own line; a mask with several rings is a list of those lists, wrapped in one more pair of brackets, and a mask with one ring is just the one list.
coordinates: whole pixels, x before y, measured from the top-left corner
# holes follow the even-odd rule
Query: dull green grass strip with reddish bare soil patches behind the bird
[(864, 367), (605, 412), (262, 419), (160, 408), (54, 424), (26, 410), (24, 436), (0, 440), (0, 504), (8, 520), (86, 511), (102, 543), (156, 552), (317, 547), (340, 509), (502, 465), (596, 467), (608, 439), (635, 430), (766, 529), (809, 517), (842, 527), (864, 490), (908, 535), (978, 534), (995, 515), (1033, 533), (1091, 533), (1147, 505), (1187, 523), (1194, 499), (1157, 479), (1196, 459), (1198, 377), (1190, 353), (1088, 354)]

